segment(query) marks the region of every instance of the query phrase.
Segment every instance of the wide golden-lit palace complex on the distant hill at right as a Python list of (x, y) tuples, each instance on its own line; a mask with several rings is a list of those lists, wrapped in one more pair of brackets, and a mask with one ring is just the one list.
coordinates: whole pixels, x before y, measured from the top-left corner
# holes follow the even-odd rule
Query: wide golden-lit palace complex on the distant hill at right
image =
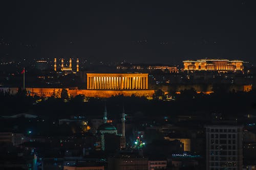
[(226, 59), (202, 59), (183, 61), (187, 71), (243, 71), (243, 61)]

